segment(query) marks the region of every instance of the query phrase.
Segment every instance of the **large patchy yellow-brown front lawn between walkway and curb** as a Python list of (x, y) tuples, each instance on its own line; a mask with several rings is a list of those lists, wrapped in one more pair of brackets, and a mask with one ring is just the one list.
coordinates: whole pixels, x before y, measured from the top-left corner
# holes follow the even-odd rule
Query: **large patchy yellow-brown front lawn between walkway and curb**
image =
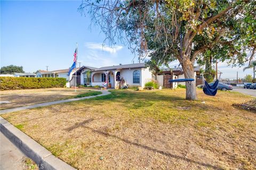
[(77, 169), (256, 169), (256, 114), (232, 106), (252, 97), (111, 92), (2, 116)]

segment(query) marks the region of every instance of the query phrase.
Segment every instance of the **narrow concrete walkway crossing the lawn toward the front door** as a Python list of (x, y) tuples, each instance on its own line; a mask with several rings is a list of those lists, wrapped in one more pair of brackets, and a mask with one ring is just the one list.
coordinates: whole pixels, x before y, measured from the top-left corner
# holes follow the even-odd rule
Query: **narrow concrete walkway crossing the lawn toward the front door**
[(4, 110), (0, 111), (0, 115), (5, 114), (5, 113), (23, 111), (23, 110), (30, 109), (30, 108), (50, 106), (50, 105), (55, 105), (55, 104), (61, 104), (61, 103), (84, 100), (84, 99), (90, 99), (90, 98), (94, 98), (94, 97), (97, 97), (97, 96), (105, 96), (105, 95), (111, 94), (108, 90), (97, 90), (97, 91), (101, 91), (102, 94), (95, 95), (95, 96), (72, 98), (72, 99), (66, 99), (66, 100), (57, 100), (57, 101), (51, 101), (51, 102), (46, 102), (46, 103), (39, 103), (39, 104), (35, 104), (35, 105), (28, 105), (28, 106), (22, 106), (22, 107), (16, 107), (16, 108), (4, 109)]

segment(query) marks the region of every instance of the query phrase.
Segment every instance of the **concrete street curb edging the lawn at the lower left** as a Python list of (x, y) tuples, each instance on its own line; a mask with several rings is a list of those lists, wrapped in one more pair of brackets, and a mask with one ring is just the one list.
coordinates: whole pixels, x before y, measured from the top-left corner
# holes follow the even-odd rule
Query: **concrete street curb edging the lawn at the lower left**
[(15, 126), (7, 122), (3, 117), (0, 117), (0, 131), (19, 148), (23, 154), (34, 160), (39, 169), (75, 170), (75, 168), (53, 156), (49, 150), (15, 128)]

